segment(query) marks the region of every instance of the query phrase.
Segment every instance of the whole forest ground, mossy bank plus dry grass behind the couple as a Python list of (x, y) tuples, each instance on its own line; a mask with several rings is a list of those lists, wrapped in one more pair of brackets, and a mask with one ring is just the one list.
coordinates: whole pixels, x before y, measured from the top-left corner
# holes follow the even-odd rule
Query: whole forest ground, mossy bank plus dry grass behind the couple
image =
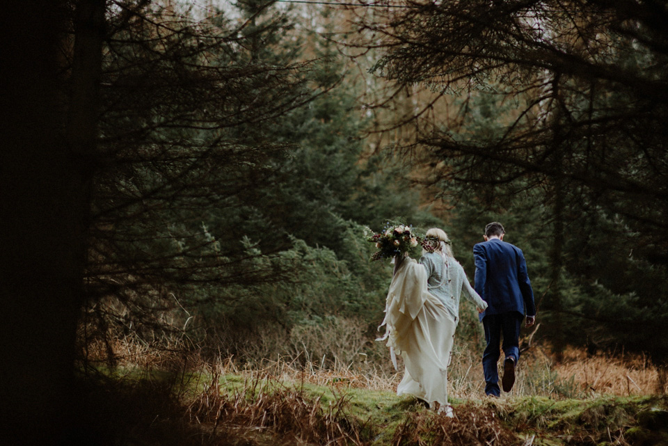
[(100, 446), (668, 446), (665, 369), (644, 355), (568, 349), (557, 362), (534, 347), (491, 399), (479, 354), (456, 349), (446, 417), (398, 397), (402, 374), (383, 356), (239, 365), (123, 342), (112, 362), (93, 347), (80, 420)]

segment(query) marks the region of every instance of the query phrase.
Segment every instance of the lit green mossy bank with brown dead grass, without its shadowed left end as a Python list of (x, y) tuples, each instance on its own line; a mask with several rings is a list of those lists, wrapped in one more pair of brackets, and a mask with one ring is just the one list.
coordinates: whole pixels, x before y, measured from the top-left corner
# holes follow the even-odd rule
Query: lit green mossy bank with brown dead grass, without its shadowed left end
[(213, 394), (218, 401), (202, 394), (191, 411), (209, 424), (225, 420), (228, 438), (241, 427), (230, 444), (253, 444), (247, 429), (259, 428), (269, 434), (267, 444), (668, 445), (667, 397), (468, 399), (452, 401), (449, 418), (384, 390), (249, 383), (239, 376), (222, 383)]

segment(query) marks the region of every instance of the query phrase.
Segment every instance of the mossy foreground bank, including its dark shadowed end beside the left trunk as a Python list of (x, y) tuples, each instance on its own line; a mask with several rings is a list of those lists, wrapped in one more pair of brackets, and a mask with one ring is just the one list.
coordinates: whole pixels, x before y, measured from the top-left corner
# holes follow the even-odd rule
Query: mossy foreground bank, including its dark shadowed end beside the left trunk
[(668, 446), (667, 395), (454, 398), (449, 418), (337, 374), (225, 370), (116, 371), (89, 381), (82, 422), (123, 446)]

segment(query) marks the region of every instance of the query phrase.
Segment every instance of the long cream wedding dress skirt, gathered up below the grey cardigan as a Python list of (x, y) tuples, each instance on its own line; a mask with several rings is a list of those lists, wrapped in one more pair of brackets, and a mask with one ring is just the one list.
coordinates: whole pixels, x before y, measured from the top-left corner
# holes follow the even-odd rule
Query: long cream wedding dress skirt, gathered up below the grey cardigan
[[(456, 323), (445, 305), (427, 291), (424, 266), (406, 257), (395, 272), (385, 303), (385, 335), (392, 363), (404, 359), (397, 395), (414, 395), (434, 407), (447, 406), (447, 366)], [(379, 327), (379, 329), (381, 328)]]

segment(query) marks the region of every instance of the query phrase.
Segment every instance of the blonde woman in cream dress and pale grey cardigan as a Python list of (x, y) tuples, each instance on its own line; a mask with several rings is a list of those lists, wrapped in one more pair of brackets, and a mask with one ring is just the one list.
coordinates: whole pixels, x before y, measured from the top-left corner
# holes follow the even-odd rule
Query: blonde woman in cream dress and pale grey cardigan
[(379, 340), (387, 340), (395, 368), (395, 354), (404, 359), (404, 379), (397, 395), (413, 395), (452, 417), (447, 402), (447, 367), (459, 323), (459, 298), (464, 294), (479, 312), (487, 303), (454, 259), (443, 230), (428, 230), (422, 248), (420, 262), (395, 251), (395, 271), (381, 324), (386, 330)]

